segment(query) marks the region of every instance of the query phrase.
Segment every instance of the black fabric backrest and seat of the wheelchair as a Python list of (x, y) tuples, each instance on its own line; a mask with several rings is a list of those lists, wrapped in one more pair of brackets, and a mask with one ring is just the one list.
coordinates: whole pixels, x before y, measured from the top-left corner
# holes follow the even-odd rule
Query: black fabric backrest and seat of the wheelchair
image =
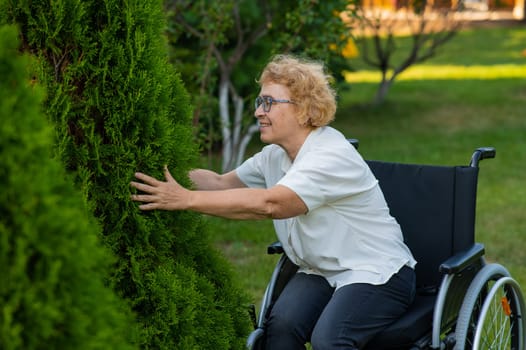
[[(415, 302), (367, 349), (404, 349), (431, 330), (441, 263), (474, 244), (478, 167), (368, 164), (418, 263)], [(455, 309), (462, 299), (453, 297)]]

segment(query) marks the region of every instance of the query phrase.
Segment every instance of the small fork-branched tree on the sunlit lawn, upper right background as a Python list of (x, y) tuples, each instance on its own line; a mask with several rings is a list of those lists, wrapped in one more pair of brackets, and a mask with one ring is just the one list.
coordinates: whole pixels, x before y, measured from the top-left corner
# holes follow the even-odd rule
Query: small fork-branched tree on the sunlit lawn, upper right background
[[(373, 104), (384, 102), (400, 73), (433, 57), (441, 46), (454, 37), (461, 25), (454, 18), (455, 12), (456, 8), (449, 4), (444, 6), (438, 1), (427, 0), (401, 2), (393, 10), (356, 8), (358, 15), (349, 18), (349, 22), (362, 59), (382, 74)], [(401, 54), (402, 59), (395, 59), (396, 53), (400, 52), (396, 44), (399, 35), (409, 35), (412, 45)]]

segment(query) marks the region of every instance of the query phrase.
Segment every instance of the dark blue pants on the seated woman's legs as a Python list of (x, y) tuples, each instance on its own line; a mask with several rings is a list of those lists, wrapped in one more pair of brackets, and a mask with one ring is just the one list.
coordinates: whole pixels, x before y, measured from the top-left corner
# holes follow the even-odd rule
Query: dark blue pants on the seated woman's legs
[(272, 308), (268, 350), (362, 349), (398, 319), (415, 295), (415, 273), (403, 267), (383, 285), (350, 284), (334, 291), (320, 276), (297, 273)]

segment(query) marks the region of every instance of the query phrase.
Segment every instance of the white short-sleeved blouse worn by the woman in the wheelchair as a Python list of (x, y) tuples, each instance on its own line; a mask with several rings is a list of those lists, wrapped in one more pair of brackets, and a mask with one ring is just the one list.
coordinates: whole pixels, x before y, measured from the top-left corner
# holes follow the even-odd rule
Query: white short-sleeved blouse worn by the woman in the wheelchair
[(315, 129), (291, 163), (277, 145), (265, 146), (236, 169), (248, 187), (283, 185), (308, 212), (274, 220), (278, 239), (300, 272), (321, 275), (335, 288), (384, 284), (416, 261), (378, 180), (342, 133)]

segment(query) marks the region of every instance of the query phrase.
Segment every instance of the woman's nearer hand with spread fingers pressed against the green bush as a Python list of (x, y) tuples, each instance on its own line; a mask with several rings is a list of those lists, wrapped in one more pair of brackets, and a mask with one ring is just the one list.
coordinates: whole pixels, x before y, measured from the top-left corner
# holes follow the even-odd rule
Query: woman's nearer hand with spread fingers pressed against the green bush
[(130, 185), (143, 194), (133, 194), (131, 199), (142, 202), (141, 210), (184, 210), (190, 197), (190, 191), (179, 185), (172, 177), (168, 167), (164, 167), (166, 181), (159, 181), (143, 173), (135, 173), (135, 177), (141, 182), (132, 181)]

